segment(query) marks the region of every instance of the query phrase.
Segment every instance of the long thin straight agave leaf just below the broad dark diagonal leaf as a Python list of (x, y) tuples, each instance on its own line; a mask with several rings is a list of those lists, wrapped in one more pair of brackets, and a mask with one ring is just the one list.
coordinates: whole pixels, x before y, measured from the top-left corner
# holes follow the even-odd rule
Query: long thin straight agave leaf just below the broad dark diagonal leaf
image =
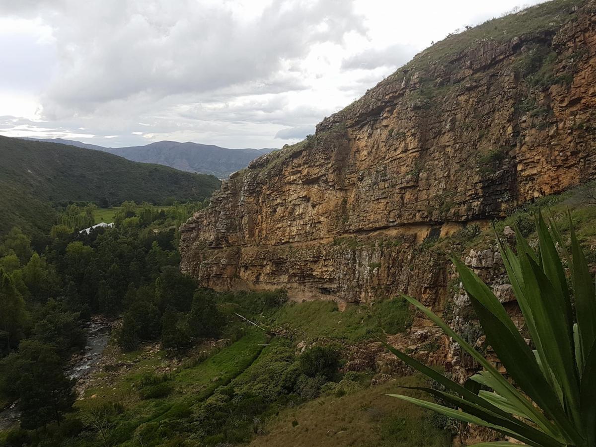
[(415, 300), (414, 298), (412, 298), (410, 296), (407, 296), (407, 295), (402, 295), (402, 296), (406, 300), (408, 300), (408, 302), (410, 302), (412, 305), (414, 305), (416, 308), (418, 308), (420, 311), (422, 311), (426, 316), (428, 316), (429, 319), (434, 322), (434, 324), (439, 326), (445, 332), (445, 334), (447, 334), (449, 337), (454, 339), (455, 342), (460, 344), (462, 349), (464, 349), (466, 352), (468, 352), (477, 362), (479, 362), (479, 364), (485, 368), (486, 373), (492, 375), (493, 380), (495, 380), (496, 382), (499, 383), (499, 386), (503, 387), (504, 389), (507, 389), (508, 396), (510, 396), (511, 399), (513, 399), (517, 403), (517, 405), (522, 406), (525, 409), (527, 414), (532, 415), (531, 419), (533, 422), (538, 424), (542, 428), (542, 430), (544, 430), (545, 432), (552, 434), (553, 436), (557, 436), (557, 434), (558, 434), (557, 427), (555, 427), (551, 423), (551, 421), (549, 421), (544, 416), (544, 414), (542, 414), (541, 411), (536, 409), (535, 406), (532, 404), (532, 402), (528, 401), (528, 399), (525, 396), (523, 396), (512, 384), (510, 384), (502, 376), (502, 374), (499, 373), (499, 371), (497, 371), (495, 369), (495, 367), (493, 367), (491, 362), (489, 362), (487, 359), (485, 359), (482, 354), (480, 354), (476, 349), (474, 349), (472, 346), (470, 346), (469, 343), (465, 342), (464, 339), (462, 339), (460, 336), (458, 336), (458, 334), (455, 333), (454, 330), (452, 330), (442, 319), (440, 319), (438, 316), (434, 315), (434, 313), (432, 311), (430, 311), (430, 309), (427, 309), (426, 306), (422, 305), (421, 303), (419, 303), (417, 300)]

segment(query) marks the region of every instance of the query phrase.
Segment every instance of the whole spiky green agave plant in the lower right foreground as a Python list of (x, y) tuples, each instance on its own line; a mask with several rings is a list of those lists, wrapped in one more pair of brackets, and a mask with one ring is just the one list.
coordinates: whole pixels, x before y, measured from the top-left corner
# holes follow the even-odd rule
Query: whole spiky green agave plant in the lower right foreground
[[(569, 216), (571, 247), (565, 249), (554, 222), (549, 231), (538, 213), (538, 252), (516, 228), (517, 253), (499, 250), (532, 339), (532, 350), (491, 289), (460, 260), (452, 258), (470, 296), (486, 341), (507, 369), (508, 380), (474, 347), (412, 297), (405, 296), (483, 370), (463, 386), (390, 347), (402, 361), (442, 384), (448, 392), (417, 387), (455, 408), (409, 396), (391, 395), (465, 423), (489, 427), (536, 447), (596, 447), (596, 295)], [(572, 287), (555, 242), (569, 267)], [(484, 445), (511, 445), (488, 442)]]

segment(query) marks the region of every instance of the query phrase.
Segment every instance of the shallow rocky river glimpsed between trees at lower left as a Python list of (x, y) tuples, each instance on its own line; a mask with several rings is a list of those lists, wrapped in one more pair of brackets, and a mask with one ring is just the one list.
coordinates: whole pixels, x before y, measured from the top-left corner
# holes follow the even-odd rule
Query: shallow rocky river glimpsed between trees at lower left
[[(95, 370), (101, 360), (105, 346), (110, 340), (111, 324), (109, 321), (93, 317), (86, 325), (87, 344), (85, 349), (73, 356), (65, 374), (77, 381), (85, 378)], [(75, 386), (76, 387), (76, 386)], [(20, 414), (15, 403), (0, 411), (0, 430), (6, 430), (18, 423)]]

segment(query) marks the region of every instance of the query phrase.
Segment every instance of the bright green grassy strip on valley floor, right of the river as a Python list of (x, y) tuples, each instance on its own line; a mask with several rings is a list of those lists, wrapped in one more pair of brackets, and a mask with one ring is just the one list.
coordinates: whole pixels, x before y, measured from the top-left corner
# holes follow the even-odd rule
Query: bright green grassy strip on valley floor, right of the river
[[(253, 363), (265, 341), (262, 331), (249, 329), (240, 340), (191, 368), (175, 366), (163, 351), (122, 353), (117, 361), (132, 367), (125, 373), (95, 374), (94, 386), (89, 387), (84, 399), (75, 404), (78, 416), (89, 420), (94, 408), (113, 403), (123, 405), (124, 411), (114, 415), (111, 422), (110, 439), (116, 444), (131, 440), (135, 430), (153, 430), (155, 427), (162, 430), (159, 427), (168, 427), (173, 421), (187, 420), (193, 405), (209, 398), (218, 387), (228, 384)], [(166, 367), (170, 367), (168, 380), (164, 382), (171, 388), (169, 395), (142, 399), (139, 387), (144, 375)], [(131, 444), (126, 442), (125, 445)]]

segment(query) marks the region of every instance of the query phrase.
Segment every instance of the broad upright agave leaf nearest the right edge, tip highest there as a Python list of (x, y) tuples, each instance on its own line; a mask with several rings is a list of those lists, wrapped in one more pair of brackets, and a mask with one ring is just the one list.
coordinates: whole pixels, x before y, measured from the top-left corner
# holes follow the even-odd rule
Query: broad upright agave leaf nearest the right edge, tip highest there
[[(569, 222), (571, 223), (570, 213)], [(596, 291), (594, 290), (594, 283), (592, 283), (588, 263), (585, 256), (583, 256), (583, 251), (573, 230), (573, 225), (570, 225), (570, 227), (573, 257), (571, 278), (573, 281), (573, 291), (575, 292), (575, 310), (578, 318), (582, 352), (588, 353), (591, 352), (592, 345), (596, 339)], [(586, 361), (583, 363), (587, 365)]]

